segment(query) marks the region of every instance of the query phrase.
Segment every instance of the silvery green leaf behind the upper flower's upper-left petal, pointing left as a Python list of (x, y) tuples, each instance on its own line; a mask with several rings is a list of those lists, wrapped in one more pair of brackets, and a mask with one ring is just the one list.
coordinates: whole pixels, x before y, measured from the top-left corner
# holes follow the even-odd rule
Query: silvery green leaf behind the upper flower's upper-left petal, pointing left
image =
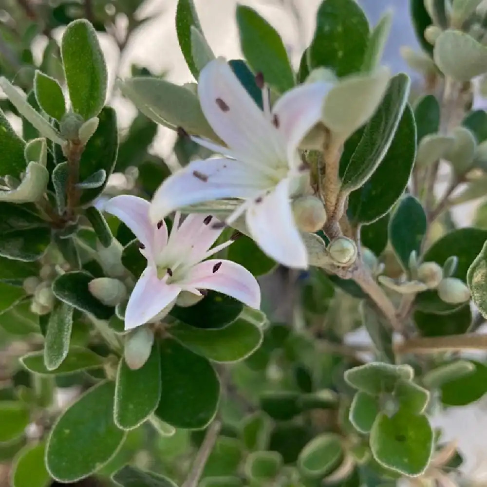
[(154, 122), (218, 140), (206, 121), (198, 97), (185, 87), (149, 76), (127, 79), (119, 86), (122, 94)]

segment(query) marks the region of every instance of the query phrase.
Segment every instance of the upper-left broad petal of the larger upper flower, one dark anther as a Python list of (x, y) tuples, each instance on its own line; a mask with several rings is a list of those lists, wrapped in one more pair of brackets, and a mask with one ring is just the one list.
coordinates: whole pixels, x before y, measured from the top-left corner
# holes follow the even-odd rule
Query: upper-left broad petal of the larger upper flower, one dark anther
[(270, 166), (285, 160), (281, 135), (224, 59), (206, 64), (200, 74), (198, 95), (209, 124), (239, 158)]

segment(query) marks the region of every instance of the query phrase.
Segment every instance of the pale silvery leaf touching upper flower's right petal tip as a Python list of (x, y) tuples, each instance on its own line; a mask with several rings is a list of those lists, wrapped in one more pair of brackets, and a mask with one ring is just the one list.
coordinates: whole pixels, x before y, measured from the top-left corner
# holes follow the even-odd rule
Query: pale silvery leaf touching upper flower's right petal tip
[(340, 80), (326, 96), (321, 121), (345, 140), (375, 112), (390, 79), (390, 71), (381, 67), (370, 75), (349, 76)]

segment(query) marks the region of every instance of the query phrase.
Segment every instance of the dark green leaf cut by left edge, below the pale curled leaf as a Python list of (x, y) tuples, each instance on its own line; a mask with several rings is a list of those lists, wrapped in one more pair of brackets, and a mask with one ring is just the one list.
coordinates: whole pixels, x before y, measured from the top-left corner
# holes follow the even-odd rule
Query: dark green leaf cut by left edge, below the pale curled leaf
[(35, 206), (0, 203), (0, 256), (37, 261), (51, 243), (51, 229)]

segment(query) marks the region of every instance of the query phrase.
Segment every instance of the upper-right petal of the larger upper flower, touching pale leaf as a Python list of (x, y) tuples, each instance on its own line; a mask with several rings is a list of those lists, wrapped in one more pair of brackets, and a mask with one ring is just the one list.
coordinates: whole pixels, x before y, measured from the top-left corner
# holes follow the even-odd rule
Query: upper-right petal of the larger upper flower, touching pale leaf
[(286, 92), (273, 107), (279, 131), (287, 143), (290, 164), (300, 164), (296, 150), (304, 136), (319, 122), (324, 99), (332, 83), (317, 81), (303, 84)]

